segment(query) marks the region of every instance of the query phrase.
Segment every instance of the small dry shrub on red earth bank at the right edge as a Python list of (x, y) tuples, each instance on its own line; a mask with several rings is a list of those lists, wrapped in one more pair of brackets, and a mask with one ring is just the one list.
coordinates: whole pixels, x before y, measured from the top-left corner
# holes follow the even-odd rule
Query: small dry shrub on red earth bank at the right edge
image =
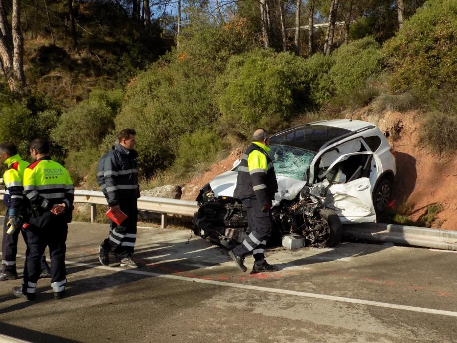
[(421, 140), (435, 152), (457, 149), (457, 115), (434, 111), (428, 113), (421, 126)]

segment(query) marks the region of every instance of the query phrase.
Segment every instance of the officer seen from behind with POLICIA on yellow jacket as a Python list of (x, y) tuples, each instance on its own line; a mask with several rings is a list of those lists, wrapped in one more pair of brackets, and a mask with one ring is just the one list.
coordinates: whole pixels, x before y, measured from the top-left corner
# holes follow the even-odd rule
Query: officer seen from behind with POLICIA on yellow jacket
[(30, 201), (31, 215), (23, 224), (26, 236), (24, 280), (22, 287), (14, 287), (18, 297), (35, 299), (40, 276), (40, 257), (46, 246), (51, 257), (51, 286), (54, 298), (64, 295), (66, 279), (65, 252), (68, 222), (74, 187), (69, 172), (49, 157), (49, 144), (36, 138), (30, 143), (30, 154), (36, 160), (24, 171), (24, 193)]

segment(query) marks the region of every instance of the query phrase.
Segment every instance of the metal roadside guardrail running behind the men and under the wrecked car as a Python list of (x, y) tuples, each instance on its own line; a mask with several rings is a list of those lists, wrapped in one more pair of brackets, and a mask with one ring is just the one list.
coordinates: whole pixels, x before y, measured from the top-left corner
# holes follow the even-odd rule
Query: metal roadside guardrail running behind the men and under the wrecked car
[[(0, 194), (4, 191), (0, 190)], [(91, 204), (91, 222), (95, 221), (97, 205), (108, 205), (102, 192), (75, 191), (74, 202)], [(138, 210), (161, 214), (161, 227), (167, 224), (167, 215), (193, 217), (198, 206), (196, 201), (168, 199), (154, 196), (141, 196), (137, 200)], [(363, 223), (343, 225), (343, 234), (375, 242), (391, 242), (401, 245), (423, 246), (457, 251), (457, 231), (430, 229), (383, 223)]]

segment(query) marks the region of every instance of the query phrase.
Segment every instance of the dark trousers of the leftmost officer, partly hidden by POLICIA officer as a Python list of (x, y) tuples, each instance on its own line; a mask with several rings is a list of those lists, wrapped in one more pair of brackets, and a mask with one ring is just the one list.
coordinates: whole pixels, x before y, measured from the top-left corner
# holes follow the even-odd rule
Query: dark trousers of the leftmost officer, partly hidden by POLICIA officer
[[(5, 220), (3, 221), (3, 241), (1, 245), (2, 259), (1, 264), (3, 265), (4, 273), (17, 274), (16, 271), (16, 254), (18, 253), (18, 240), (19, 232), (22, 231), (20, 228), (16, 229), (12, 234), (7, 234), (8, 227), (6, 223), (9, 218), (9, 208), (6, 209)], [(25, 236), (23, 235), (24, 240)], [(46, 256), (43, 252), (41, 257), (41, 270), (49, 271), (49, 266), (46, 263)]]

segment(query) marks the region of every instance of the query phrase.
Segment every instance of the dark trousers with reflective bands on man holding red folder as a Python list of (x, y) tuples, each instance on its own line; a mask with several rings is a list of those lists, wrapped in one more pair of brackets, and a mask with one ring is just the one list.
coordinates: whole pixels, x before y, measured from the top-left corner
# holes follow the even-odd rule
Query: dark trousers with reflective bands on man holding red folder
[(116, 254), (119, 259), (123, 259), (134, 252), (135, 242), (137, 241), (137, 218), (138, 207), (137, 198), (131, 201), (121, 201), (120, 209), (127, 215), (121, 225), (117, 225), (110, 220), (110, 234), (102, 243), (102, 247)]

